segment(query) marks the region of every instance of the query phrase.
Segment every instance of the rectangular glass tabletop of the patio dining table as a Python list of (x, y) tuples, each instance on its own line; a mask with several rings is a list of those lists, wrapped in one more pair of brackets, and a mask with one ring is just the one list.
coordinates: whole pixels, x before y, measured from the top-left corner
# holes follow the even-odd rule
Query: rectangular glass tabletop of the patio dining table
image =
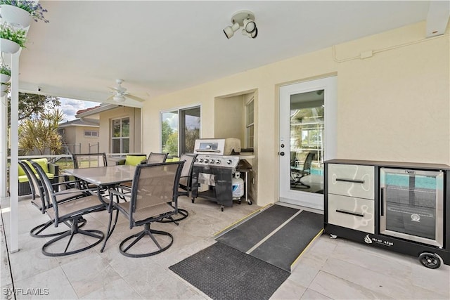
[(65, 174), (97, 186), (116, 185), (125, 181), (132, 181), (134, 171), (136, 171), (136, 166), (130, 165), (64, 170)]

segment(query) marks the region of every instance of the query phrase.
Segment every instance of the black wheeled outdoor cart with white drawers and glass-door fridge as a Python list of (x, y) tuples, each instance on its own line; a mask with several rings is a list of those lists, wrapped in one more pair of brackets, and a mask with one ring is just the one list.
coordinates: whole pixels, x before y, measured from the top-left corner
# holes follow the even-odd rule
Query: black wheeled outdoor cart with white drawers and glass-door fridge
[(324, 232), (449, 265), (449, 175), (445, 164), (328, 160)]

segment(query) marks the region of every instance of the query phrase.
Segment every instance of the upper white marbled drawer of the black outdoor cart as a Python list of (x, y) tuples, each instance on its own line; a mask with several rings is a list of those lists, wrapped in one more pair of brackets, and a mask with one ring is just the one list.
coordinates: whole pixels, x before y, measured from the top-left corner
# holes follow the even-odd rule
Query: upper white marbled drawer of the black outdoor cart
[(328, 193), (375, 199), (375, 167), (328, 164)]

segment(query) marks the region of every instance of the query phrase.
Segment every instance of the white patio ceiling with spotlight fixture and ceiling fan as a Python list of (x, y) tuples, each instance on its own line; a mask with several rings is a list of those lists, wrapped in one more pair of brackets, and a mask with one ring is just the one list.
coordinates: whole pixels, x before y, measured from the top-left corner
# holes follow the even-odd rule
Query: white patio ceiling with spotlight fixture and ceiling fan
[[(333, 44), (426, 20), (430, 1), (39, 1), (20, 90), (105, 102), (108, 86), (150, 100)], [(256, 39), (226, 39), (236, 11)], [(424, 32), (425, 36), (425, 32)], [(127, 100), (128, 105), (139, 105)]]

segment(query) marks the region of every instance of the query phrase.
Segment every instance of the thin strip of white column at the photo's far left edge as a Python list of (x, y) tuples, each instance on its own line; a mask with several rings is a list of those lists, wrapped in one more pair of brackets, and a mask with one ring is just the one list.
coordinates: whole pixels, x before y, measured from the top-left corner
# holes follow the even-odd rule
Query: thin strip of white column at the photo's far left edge
[(8, 166), (8, 95), (0, 98), (0, 199), (8, 197), (6, 168)]

